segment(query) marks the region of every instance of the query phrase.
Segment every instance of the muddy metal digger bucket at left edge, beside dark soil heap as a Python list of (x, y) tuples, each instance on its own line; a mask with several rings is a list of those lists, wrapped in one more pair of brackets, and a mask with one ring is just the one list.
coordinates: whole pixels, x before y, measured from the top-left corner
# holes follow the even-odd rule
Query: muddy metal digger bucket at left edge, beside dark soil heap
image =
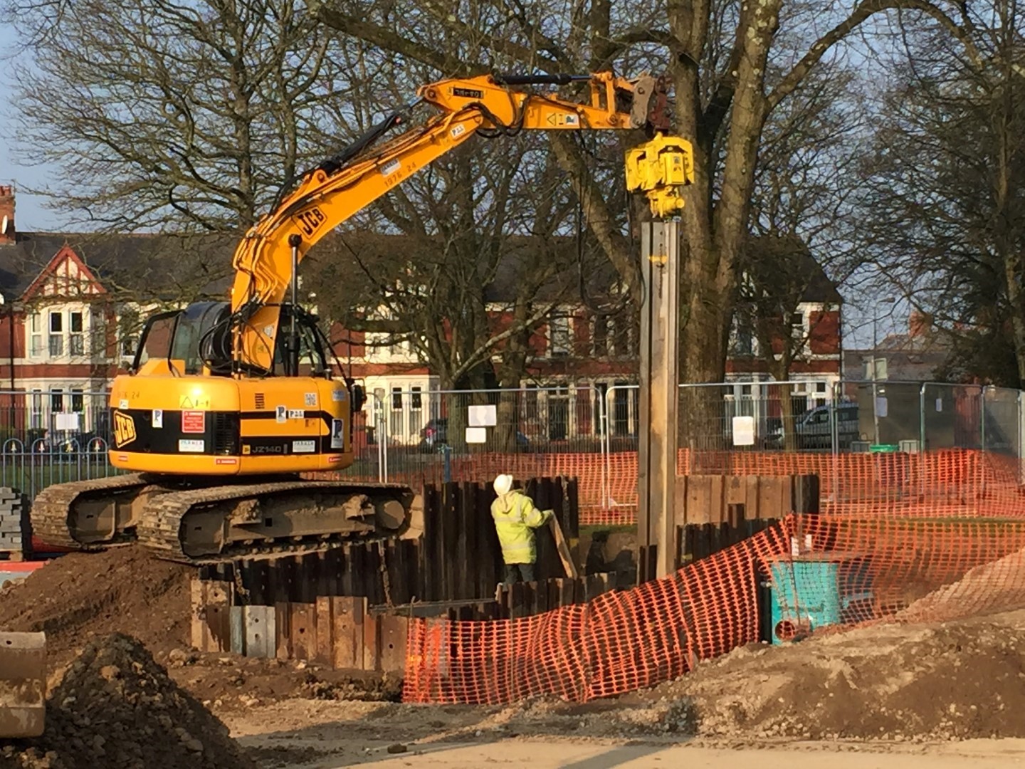
[(46, 634), (0, 633), (0, 737), (38, 737), (46, 726)]

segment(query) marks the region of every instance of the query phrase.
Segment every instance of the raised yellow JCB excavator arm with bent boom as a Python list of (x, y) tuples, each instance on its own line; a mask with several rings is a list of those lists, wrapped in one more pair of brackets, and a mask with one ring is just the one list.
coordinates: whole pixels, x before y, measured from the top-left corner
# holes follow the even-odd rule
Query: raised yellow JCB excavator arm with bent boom
[[(521, 85), (587, 81), (587, 104), (518, 90)], [(295, 189), (245, 236), (235, 253), (232, 288), (233, 365), (236, 375), (272, 370), (281, 305), (305, 253), (335, 227), (366, 208), (475, 133), (530, 130), (664, 130), (664, 89), (651, 76), (634, 80), (593, 75), (493, 76), (421, 86), (418, 102), (440, 114), (382, 145), (369, 148), (405, 121), (395, 113), (339, 155), (308, 172)], [(413, 103), (414, 105), (417, 103)], [(410, 105), (409, 107), (412, 107)]]

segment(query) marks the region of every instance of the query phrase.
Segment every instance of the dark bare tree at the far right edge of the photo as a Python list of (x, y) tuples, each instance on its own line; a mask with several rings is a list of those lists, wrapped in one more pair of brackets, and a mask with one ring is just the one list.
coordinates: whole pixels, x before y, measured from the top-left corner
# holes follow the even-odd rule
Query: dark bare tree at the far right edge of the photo
[(942, 330), (947, 374), (1025, 382), (1025, 15), (1015, 0), (972, 7), (974, 56), (933, 32), (885, 95), (864, 163), (864, 247)]

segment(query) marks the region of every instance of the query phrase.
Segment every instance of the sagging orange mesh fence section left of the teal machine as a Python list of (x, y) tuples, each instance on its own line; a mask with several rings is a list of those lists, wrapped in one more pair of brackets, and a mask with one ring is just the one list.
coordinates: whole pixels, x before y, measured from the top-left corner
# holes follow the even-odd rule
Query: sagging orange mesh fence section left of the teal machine
[[(788, 525), (788, 524), (787, 524)], [(757, 640), (755, 565), (785, 549), (768, 529), (672, 576), (523, 619), (414, 620), (404, 699), (575, 701), (650, 686)]]

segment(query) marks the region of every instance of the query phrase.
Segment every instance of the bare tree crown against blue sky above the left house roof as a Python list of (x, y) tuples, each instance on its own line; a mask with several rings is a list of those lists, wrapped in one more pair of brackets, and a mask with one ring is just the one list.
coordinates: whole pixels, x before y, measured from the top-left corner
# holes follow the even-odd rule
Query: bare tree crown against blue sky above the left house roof
[(92, 229), (244, 231), (325, 155), (345, 80), (294, 0), (8, 0), (34, 192)]

